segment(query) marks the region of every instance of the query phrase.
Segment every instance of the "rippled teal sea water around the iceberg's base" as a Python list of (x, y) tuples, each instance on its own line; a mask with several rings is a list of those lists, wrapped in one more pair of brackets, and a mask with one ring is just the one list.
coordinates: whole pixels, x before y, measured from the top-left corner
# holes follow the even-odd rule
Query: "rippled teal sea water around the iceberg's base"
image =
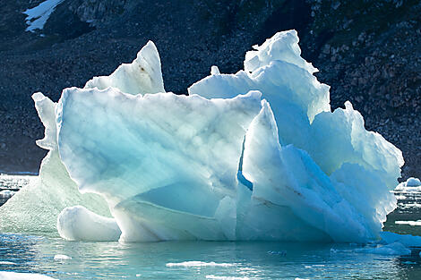
[[(421, 192), (399, 191), (385, 230), (421, 235)], [(1, 218), (1, 217), (0, 217)], [(0, 271), (56, 279), (421, 279), (409, 256), (358, 252), (367, 245), (295, 242), (66, 242), (0, 233)], [(369, 245), (368, 245), (369, 246)]]

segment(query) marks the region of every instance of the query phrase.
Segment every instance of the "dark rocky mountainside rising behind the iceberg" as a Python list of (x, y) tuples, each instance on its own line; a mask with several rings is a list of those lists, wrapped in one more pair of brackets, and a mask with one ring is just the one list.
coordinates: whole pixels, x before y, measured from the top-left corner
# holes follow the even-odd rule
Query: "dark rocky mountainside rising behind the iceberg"
[(420, 1), (64, 0), (44, 30), (25, 31), (21, 12), (41, 2), (0, 8), (0, 170), (38, 170), (34, 91), (57, 100), (61, 89), (132, 61), (152, 39), (166, 89), (185, 93), (211, 65), (236, 72), (250, 46), (296, 29), (303, 56), (331, 85), (332, 107), (350, 100), (368, 129), (403, 151), (403, 176), (421, 176)]

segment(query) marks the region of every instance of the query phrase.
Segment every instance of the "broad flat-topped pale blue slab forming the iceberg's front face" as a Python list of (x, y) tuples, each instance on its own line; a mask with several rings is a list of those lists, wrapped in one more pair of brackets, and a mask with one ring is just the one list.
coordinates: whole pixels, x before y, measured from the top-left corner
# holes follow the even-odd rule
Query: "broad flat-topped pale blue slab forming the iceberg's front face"
[(223, 240), (215, 214), (236, 191), (245, 128), (260, 97), (65, 89), (57, 109), (60, 157), (80, 191), (107, 199), (122, 241)]

